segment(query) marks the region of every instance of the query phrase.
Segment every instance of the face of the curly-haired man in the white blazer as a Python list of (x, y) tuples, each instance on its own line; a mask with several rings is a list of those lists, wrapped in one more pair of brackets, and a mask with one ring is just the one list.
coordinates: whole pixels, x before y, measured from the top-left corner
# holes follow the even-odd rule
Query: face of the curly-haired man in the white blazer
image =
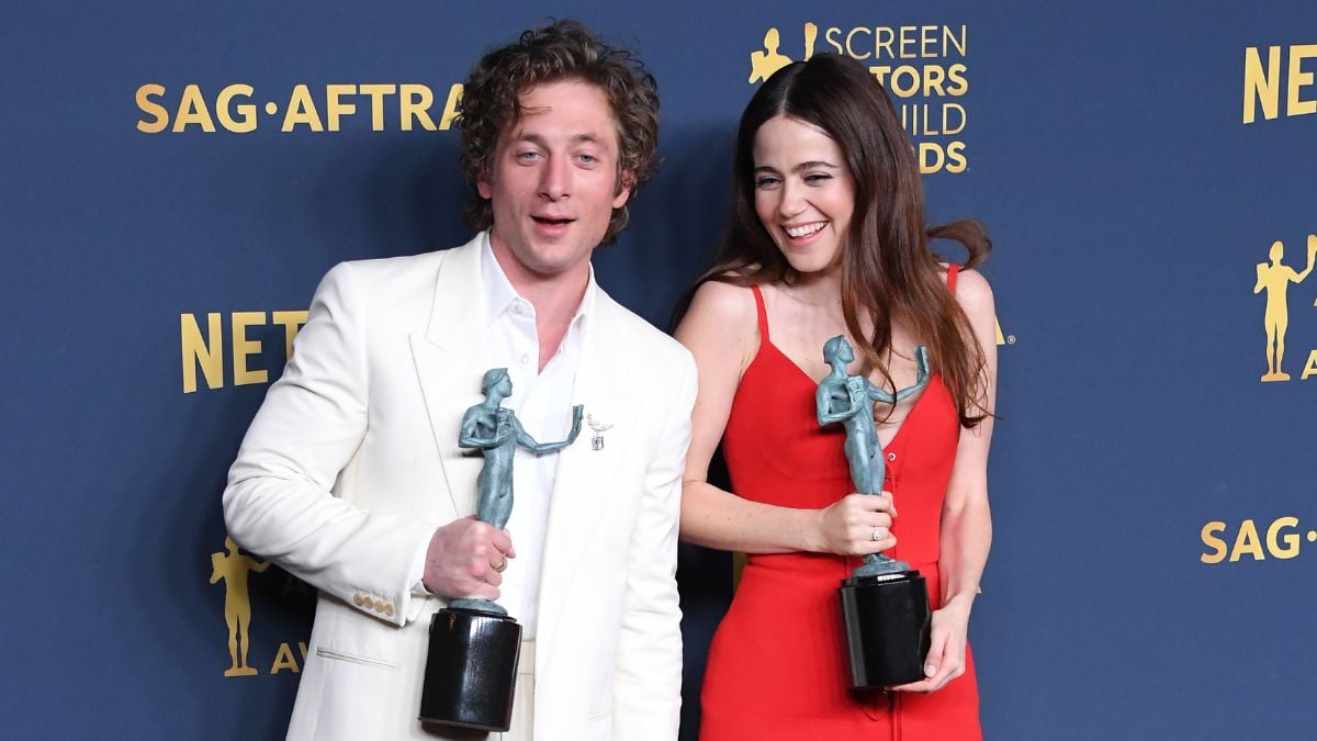
[(576, 79), (525, 90), (522, 107), (522, 120), (499, 134), (489, 177), (477, 181), (494, 210), (494, 253), (514, 285), (585, 274), (612, 210), (631, 195), (618, 187), (612, 109), (603, 91)]

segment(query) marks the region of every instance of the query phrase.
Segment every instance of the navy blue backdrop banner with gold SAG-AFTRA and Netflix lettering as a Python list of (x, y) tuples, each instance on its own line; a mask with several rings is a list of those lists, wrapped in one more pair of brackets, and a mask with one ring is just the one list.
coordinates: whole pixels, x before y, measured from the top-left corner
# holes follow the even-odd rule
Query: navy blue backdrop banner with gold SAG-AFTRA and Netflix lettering
[[(577, 17), (645, 59), (664, 165), (599, 281), (666, 326), (773, 71), (861, 61), (998, 310), (990, 738), (1312, 733), (1317, 5), (28, 3), (0, 25), (13, 738), (274, 738), (313, 595), (220, 493), (320, 277), (464, 243), (482, 51)], [(948, 253), (948, 257), (956, 257)], [(685, 548), (684, 737), (726, 554)]]

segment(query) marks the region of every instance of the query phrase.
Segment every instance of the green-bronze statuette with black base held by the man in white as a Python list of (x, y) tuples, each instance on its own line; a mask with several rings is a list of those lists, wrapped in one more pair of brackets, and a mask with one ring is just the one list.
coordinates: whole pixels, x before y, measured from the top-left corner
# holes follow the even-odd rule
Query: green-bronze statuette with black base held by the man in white
[[(457, 444), (485, 455), (477, 483), (477, 519), (502, 529), (512, 513), (512, 456), (516, 446), (535, 455), (562, 450), (581, 431), (581, 406), (572, 409), (572, 432), (558, 443), (537, 443), (516, 414), (500, 406), (512, 394), (506, 368), (481, 380), (485, 401), (462, 415)], [(420, 720), (506, 732), (512, 720), (522, 626), (489, 600), (453, 600), (429, 624), (429, 654), (420, 696)]]

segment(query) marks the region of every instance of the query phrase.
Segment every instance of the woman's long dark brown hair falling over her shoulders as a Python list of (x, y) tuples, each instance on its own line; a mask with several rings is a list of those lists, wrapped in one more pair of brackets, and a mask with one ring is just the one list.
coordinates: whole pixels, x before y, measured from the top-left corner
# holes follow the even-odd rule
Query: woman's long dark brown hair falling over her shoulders
[[(884, 386), (894, 389), (885, 357), (892, 320), (901, 318), (928, 347), (932, 370), (951, 390), (960, 423), (976, 426), (992, 414), (981, 402), (982, 349), (946, 287), (930, 241), (961, 243), (969, 253), (965, 268), (982, 262), (992, 243), (979, 222), (926, 227), (914, 150), (882, 86), (853, 59), (819, 54), (795, 62), (751, 99), (736, 136), (731, 223), (712, 268), (685, 294), (677, 316), (706, 281), (752, 286), (798, 278), (755, 211), (755, 134), (774, 116), (823, 129), (842, 148), (855, 182), (855, 211), (842, 254), (842, 315), (864, 368), (876, 369)], [(861, 315), (871, 319), (872, 335), (861, 332)]]

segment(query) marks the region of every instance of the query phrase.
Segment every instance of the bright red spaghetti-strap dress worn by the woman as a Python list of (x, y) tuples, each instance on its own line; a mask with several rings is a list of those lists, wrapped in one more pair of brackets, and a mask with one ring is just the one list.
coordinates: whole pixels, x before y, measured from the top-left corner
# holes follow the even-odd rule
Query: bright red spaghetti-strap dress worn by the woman
[[(955, 290), (956, 266), (947, 274)], [(732, 401), (723, 454), (734, 492), (778, 506), (820, 509), (852, 489), (840, 425), (819, 427), (817, 384), (769, 339), (759, 289), (759, 355)], [(884, 448), (900, 543), (888, 555), (928, 580), (938, 572), (942, 502), (960, 439), (951, 393), (936, 374)], [(860, 559), (827, 554), (751, 555), (709, 654), (703, 741), (977, 740), (973, 658), (936, 692), (852, 694), (836, 589)]]

